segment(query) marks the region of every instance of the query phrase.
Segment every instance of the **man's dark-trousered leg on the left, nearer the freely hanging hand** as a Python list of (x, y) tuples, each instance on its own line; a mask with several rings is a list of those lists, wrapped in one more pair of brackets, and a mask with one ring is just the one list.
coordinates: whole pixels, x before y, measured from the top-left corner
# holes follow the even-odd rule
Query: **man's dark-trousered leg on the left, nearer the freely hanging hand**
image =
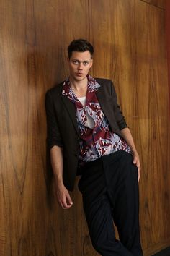
[(79, 189), (83, 195), (84, 212), (94, 248), (102, 256), (133, 256), (115, 239), (102, 158), (87, 164), (83, 172)]

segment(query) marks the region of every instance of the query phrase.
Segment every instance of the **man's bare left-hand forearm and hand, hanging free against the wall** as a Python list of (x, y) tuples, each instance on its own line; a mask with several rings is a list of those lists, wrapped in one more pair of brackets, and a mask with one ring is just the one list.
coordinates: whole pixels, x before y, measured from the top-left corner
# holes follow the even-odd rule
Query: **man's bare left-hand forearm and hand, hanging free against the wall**
[(55, 178), (55, 188), (58, 202), (63, 209), (71, 208), (73, 202), (68, 190), (63, 184), (63, 149), (61, 147), (55, 145), (50, 149), (50, 161)]

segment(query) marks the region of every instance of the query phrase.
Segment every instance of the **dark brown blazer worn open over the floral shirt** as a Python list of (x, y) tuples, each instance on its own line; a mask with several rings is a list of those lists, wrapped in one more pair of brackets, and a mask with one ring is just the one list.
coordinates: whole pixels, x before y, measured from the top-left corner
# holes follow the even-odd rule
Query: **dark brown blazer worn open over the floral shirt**
[[(120, 130), (127, 127), (120, 106), (117, 105), (117, 95), (111, 80), (96, 78), (100, 88), (96, 95), (102, 111), (109, 121), (112, 132), (120, 135)], [(47, 145), (48, 150), (54, 145), (63, 148), (63, 183), (68, 190), (73, 190), (73, 184), (78, 174), (79, 130), (76, 121), (74, 104), (62, 95), (63, 82), (46, 93), (45, 108), (47, 114)]]

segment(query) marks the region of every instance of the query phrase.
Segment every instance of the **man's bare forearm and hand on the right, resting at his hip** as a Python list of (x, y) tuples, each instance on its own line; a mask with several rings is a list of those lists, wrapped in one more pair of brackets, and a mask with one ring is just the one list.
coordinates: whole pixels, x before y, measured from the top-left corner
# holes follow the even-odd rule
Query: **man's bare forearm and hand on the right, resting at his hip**
[(140, 159), (138, 152), (135, 148), (135, 143), (133, 141), (133, 137), (131, 135), (130, 129), (128, 127), (121, 129), (120, 133), (122, 135), (122, 138), (128, 143), (130, 146), (130, 149), (132, 150), (133, 153), (133, 163), (138, 167), (138, 182), (140, 179)]

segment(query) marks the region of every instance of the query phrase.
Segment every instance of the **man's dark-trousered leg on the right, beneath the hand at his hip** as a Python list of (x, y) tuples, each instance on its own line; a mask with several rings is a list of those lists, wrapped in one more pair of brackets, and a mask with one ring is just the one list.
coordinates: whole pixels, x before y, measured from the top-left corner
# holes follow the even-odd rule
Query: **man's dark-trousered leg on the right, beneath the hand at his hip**
[(109, 155), (103, 158), (112, 216), (120, 242), (133, 255), (143, 255), (138, 218), (138, 168), (133, 164), (133, 157), (129, 153), (118, 151), (114, 154), (112, 158)]

